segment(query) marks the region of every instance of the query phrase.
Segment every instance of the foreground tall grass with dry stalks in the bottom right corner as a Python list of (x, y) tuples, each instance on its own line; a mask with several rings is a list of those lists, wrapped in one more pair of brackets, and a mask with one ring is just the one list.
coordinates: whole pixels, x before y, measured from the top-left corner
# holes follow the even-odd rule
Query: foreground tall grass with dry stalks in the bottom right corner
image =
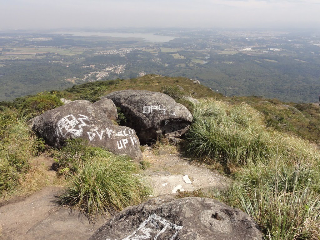
[(264, 239), (320, 239), (319, 172), (300, 161), (293, 166), (249, 165), (225, 190), (210, 197), (242, 209)]

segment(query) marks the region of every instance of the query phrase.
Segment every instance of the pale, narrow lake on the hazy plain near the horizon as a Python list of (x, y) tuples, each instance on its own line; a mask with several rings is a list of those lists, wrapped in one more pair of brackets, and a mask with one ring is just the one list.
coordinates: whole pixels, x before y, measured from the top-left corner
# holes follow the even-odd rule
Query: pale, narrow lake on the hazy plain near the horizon
[(53, 32), (52, 34), (71, 34), (74, 36), (105, 36), (105, 37), (124, 37), (124, 38), (134, 37), (134, 38), (142, 38), (143, 40), (147, 42), (152, 42), (152, 43), (165, 43), (176, 38), (173, 36), (155, 35), (153, 33)]

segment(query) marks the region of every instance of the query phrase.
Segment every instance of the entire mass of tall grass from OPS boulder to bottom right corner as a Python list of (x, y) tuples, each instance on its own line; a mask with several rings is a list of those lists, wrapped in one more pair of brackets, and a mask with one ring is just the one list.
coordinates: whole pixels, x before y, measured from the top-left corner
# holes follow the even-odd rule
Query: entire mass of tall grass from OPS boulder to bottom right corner
[(234, 179), (208, 196), (251, 215), (265, 239), (320, 239), (320, 153), (314, 145), (266, 128), (262, 114), (247, 104), (203, 100), (193, 116), (188, 153)]

